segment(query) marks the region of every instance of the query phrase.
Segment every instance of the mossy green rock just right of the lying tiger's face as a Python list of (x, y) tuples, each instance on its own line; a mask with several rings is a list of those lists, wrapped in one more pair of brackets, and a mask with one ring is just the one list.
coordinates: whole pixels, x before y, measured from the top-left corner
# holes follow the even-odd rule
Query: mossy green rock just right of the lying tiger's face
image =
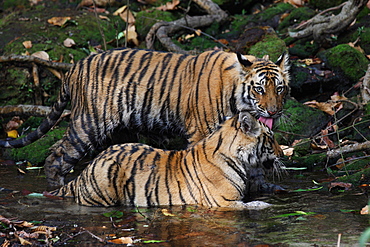
[(323, 129), (329, 119), (320, 110), (288, 99), (275, 131), (276, 139), (279, 144), (290, 145), (294, 140), (309, 138)]

